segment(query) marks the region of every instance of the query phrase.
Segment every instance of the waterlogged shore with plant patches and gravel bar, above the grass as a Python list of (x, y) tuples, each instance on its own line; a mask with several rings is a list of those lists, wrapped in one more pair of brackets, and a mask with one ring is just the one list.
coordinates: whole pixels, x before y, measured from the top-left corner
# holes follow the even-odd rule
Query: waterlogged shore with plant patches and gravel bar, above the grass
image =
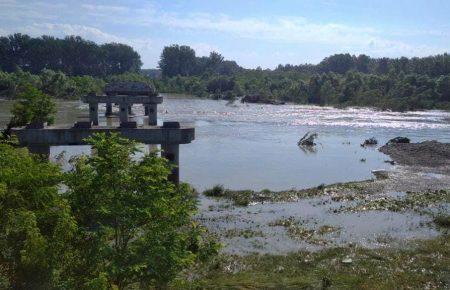
[(279, 192), (216, 188), (202, 195), (198, 220), (219, 237), (224, 253), (238, 255), (397, 247), (446, 235), (435, 220), (450, 210), (449, 144), (381, 151), (398, 164), (383, 178)]

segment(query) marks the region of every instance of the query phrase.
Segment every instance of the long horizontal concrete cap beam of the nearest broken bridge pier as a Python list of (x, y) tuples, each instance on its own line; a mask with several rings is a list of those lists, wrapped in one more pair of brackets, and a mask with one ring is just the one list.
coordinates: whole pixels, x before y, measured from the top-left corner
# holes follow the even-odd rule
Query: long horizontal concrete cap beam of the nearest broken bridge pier
[(189, 126), (181, 126), (179, 129), (156, 126), (138, 128), (50, 126), (44, 129), (14, 128), (11, 132), (18, 137), (23, 146), (84, 145), (86, 144), (84, 139), (95, 133), (120, 133), (123, 137), (144, 144), (187, 144), (195, 138), (195, 129)]

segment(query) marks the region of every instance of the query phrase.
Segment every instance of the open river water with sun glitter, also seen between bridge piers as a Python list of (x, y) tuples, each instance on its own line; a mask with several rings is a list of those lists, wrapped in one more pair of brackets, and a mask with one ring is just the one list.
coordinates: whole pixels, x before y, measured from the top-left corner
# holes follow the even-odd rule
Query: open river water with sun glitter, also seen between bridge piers
[[(0, 101), (0, 124), (9, 118), (11, 102)], [(100, 113), (105, 108), (100, 107)], [(115, 108), (117, 111), (117, 108)], [(134, 106), (143, 123), (143, 108)], [(299, 105), (227, 104), (225, 101), (166, 95), (158, 107), (159, 122), (184, 121), (196, 127), (196, 140), (180, 147), (181, 179), (198, 189), (224, 184), (233, 189), (304, 188), (371, 178), (372, 169), (387, 168), (388, 159), (376, 148), (359, 144), (376, 137), (379, 144), (407, 136), (413, 142), (450, 142), (449, 113), (381, 112)], [(87, 105), (59, 102), (57, 123), (87, 118)], [(101, 118), (100, 123), (117, 123)], [(297, 141), (317, 132), (317, 147), (302, 150)], [(148, 151), (147, 146), (143, 146)], [(89, 147), (59, 146), (52, 155), (88, 153)], [(365, 159), (365, 162), (361, 162)]]

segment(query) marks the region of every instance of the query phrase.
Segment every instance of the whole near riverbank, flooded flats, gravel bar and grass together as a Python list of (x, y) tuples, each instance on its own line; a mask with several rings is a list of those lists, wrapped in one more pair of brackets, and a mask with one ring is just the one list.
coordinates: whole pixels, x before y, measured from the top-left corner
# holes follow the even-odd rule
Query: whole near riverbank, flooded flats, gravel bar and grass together
[[(421, 150), (411, 150), (417, 146)], [(444, 148), (446, 156), (449, 147), (434, 142), (384, 147), (397, 165), (361, 182), (276, 192), (220, 186), (205, 191), (197, 220), (223, 248), (216, 259), (191, 269), (189, 282), (180, 285), (448, 287), (450, 171), (442, 156), (426, 164), (419, 158), (433, 148)], [(409, 164), (398, 156), (409, 156)]]

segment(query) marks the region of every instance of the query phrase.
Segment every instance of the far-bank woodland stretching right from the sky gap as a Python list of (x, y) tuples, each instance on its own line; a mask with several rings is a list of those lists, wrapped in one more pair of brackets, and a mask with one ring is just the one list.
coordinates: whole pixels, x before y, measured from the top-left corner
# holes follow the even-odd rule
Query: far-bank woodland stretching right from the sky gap
[[(225, 62), (229, 63), (215, 52), (197, 58), (189, 47), (166, 47), (160, 61), (162, 78), (156, 79), (155, 85), (160, 91), (200, 97), (257, 95), (268, 103), (280, 100), (397, 111), (450, 109), (448, 54), (410, 59), (336, 54), (317, 65), (288, 64), (262, 70), (243, 69), (236, 64), (224, 73), (220, 68)], [(204, 68), (201, 63), (209, 66)]]

